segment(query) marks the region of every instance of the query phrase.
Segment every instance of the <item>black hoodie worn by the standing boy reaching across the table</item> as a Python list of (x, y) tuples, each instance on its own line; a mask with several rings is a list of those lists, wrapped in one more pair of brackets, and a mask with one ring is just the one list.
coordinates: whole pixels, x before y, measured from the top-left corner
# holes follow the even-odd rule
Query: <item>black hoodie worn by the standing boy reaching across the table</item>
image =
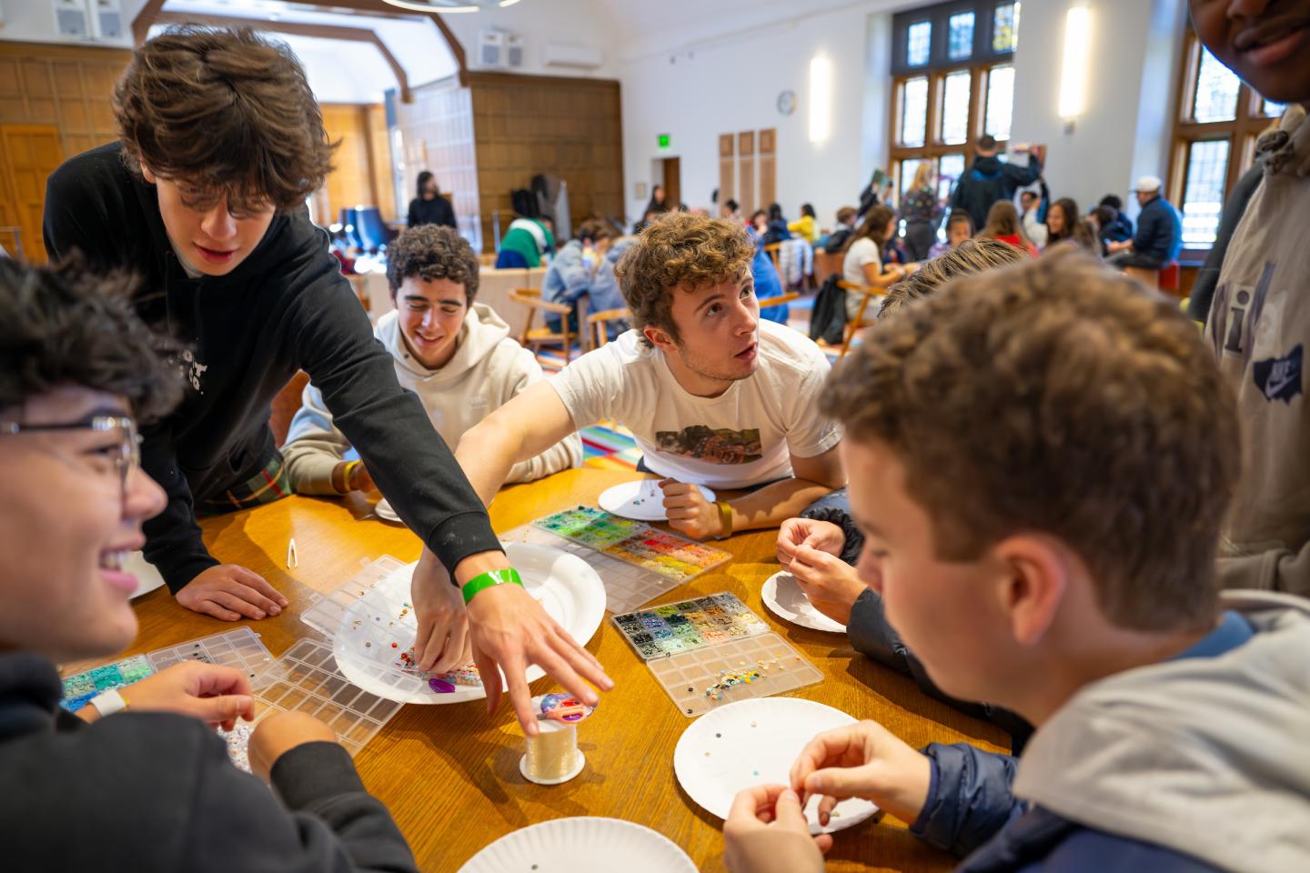
[[(97, 268), (143, 277), (138, 312), (194, 349), (182, 404), (149, 428), (141, 466), (168, 492), (145, 522), (145, 558), (177, 593), (216, 565), (194, 500), (257, 475), (275, 450), (272, 398), (303, 369), (369, 475), (447, 569), (500, 548), (468, 479), (422, 403), (396, 381), (392, 356), (304, 211), (279, 213), (227, 276), (189, 279), (169, 243), (155, 186), (123, 165), (118, 143), (66, 161), (46, 190), (46, 250), (73, 249)], [(453, 576), (453, 572), (452, 572)]]

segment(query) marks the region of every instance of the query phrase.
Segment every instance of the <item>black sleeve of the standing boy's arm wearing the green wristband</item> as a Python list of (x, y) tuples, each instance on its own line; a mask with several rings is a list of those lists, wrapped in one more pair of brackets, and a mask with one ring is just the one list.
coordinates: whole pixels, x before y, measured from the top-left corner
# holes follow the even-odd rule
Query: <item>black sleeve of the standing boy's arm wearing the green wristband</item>
[(305, 291), (292, 304), (295, 335), (286, 342), (299, 349), (299, 364), (322, 391), (335, 425), (452, 576), (469, 555), (499, 551), (486, 508), (418, 397), (396, 381), (396, 364), (373, 338), (335, 259), (316, 247), (304, 260)]

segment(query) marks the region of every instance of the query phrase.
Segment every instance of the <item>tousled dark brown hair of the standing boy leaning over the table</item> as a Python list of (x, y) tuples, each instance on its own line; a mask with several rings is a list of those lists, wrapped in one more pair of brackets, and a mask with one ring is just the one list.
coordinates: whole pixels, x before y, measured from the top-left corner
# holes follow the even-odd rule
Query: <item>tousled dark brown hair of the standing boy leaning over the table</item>
[(291, 50), (249, 27), (170, 27), (132, 54), (114, 88), (123, 162), (227, 192), (233, 211), (292, 209), (331, 171), (335, 148)]

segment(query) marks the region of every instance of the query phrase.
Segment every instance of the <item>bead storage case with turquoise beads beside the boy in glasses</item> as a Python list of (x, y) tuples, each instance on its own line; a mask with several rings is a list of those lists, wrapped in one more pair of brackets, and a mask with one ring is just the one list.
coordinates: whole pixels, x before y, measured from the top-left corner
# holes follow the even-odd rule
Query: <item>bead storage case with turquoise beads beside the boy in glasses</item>
[(148, 654), (134, 654), (122, 661), (67, 677), (63, 681), (62, 705), (68, 712), (77, 712), (98, 694), (111, 688), (122, 688), (183, 661), (202, 661), (236, 668), (254, 681), (257, 674), (272, 662), (272, 654), (259, 641), (259, 635), (248, 627), (227, 633), (215, 633), (156, 649)]

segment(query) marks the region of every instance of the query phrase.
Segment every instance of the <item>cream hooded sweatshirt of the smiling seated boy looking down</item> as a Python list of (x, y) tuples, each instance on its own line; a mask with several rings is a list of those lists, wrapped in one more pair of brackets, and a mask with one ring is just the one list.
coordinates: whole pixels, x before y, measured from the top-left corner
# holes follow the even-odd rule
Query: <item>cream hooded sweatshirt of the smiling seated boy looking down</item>
[[(377, 319), (373, 335), (392, 353), (401, 387), (414, 391), (432, 427), (453, 450), (460, 437), (510, 398), (545, 376), (528, 349), (510, 339), (510, 326), (485, 304), (473, 304), (460, 329), (458, 347), (445, 366), (430, 370), (410, 353), (400, 317)], [(313, 383), (305, 386), (282, 454), (297, 493), (335, 495), (331, 471), (350, 449)], [(534, 458), (514, 465), (507, 482), (531, 482), (582, 463), (582, 437), (561, 440)]]

